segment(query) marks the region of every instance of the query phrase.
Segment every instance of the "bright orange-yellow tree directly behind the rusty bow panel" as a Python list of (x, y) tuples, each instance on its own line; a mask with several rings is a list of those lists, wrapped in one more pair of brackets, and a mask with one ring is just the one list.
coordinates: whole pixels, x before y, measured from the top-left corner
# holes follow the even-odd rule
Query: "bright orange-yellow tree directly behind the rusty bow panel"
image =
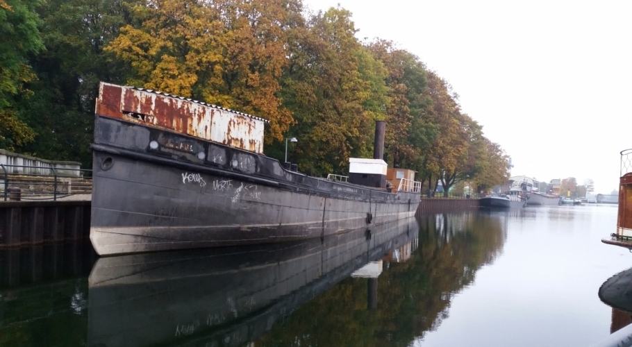
[(280, 140), (293, 119), (278, 78), (300, 11), (294, 0), (151, 1), (133, 8), (140, 26), (124, 26), (106, 50), (131, 67), (127, 83), (269, 119)]

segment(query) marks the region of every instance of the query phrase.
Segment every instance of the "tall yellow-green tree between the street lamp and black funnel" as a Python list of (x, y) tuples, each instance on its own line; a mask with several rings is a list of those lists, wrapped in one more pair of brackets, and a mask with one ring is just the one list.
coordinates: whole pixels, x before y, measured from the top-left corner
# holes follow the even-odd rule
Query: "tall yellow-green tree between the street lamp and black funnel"
[(386, 70), (355, 37), (351, 13), (318, 12), (293, 31), (281, 78), (283, 105), (297, 121), (299, 169), (343, 173), (349, 158), (371, 156), (374, 121), (384, 119)]

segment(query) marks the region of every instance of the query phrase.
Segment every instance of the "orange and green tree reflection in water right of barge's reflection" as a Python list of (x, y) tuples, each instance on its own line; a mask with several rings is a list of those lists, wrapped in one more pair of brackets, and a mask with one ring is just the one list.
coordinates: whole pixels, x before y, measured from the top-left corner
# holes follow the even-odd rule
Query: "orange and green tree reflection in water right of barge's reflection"
[(383, 259), (377, 310), (367, 278), (347, 278), (313, 298), (254, 346), (409, 346), (449, 316), (451, 298), (502, 251), (508, 212), (420, 218), (418, 248), (405, 262)]

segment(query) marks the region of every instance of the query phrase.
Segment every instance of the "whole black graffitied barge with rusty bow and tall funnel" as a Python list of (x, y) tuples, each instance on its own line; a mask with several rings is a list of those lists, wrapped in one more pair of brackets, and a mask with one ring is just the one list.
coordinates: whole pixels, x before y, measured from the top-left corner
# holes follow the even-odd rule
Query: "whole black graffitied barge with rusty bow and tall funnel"
[[(263, 155), (267, 121), (153, 90), (101, 83), (90, 240), (99, 255), (324, 237), (415, 214), (419, 183), (386, 189), (383, 124), (349, 182)], [(391, 169), (392, 170), (392, 169)]]

